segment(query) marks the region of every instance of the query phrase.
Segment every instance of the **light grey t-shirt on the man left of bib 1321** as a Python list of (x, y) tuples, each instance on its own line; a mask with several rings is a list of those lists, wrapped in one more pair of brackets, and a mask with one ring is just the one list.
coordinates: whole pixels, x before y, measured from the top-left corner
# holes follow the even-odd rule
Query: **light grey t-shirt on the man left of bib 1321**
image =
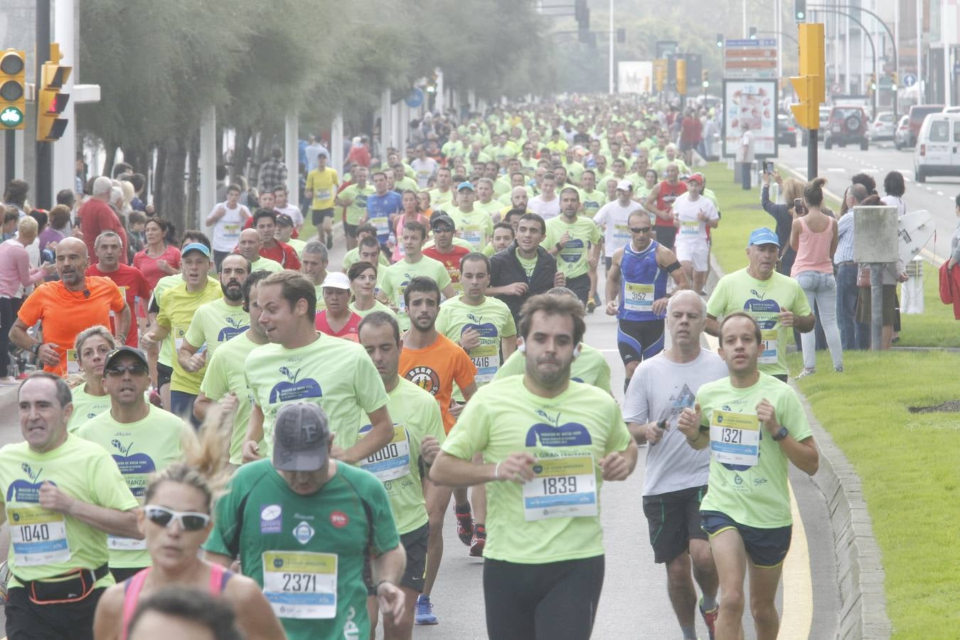
[(623, 401), (627, 422), (667, 420), (666, 433), (657, 444), (647, 446), (643, 495), (660, 495), (707, 484), (709, 447), (695, 451), (677, 429), (684, 407), (693, 407), (701, 385), (729, 375), (716, 353), (703, 349), (696, 360), (678, 364), (663, 353), (636, 367)]

